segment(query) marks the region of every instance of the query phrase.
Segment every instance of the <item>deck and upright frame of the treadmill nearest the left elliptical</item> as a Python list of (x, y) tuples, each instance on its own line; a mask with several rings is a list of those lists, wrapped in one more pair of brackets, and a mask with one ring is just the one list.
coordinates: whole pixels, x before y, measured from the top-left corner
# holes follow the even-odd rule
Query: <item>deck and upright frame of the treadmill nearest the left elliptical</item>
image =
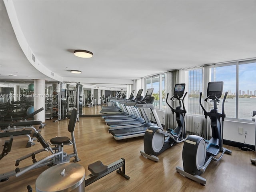
[(158, 118), (158, 115), (156, 113), (156, 110), (152, 104), (145, 103), (145, 102), (138, 102), (134, 106), (135, 108), (140, 108), (142, 112), (144, 112), (144, 117), (145, 119), (149, 120), (146, 112), (144, 111), (144, 108), (149, 108), (153, 114), (154, 119), (156, 120), (156, 124), (151, 123), (150, 120), (146, 122), (145, 124), (142, 125), (134, 125), (133, 127), (130, 128), (118, 128), (118, 129), (109, 129), (109, 132), (114, 136), (115, 140), (122, 140), (122, 139), (127, 139), (127, 138), (134, 138), (134, 137), (139, 137), (139, 136), (144, 136), (146, 130), (150, 126), (158, 126), (162, 128), (162, 124)]

